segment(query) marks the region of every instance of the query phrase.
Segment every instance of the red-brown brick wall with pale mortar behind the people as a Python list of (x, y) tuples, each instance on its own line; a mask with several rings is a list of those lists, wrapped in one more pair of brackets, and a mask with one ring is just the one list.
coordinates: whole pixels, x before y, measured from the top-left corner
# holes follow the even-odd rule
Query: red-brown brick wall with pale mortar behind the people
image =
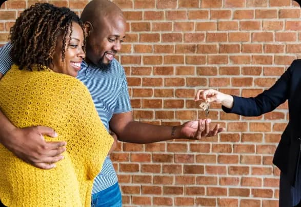
[[(36, 1), (0, 8), (0, 44)], [(80, 12), (88, 1), (44, 1)], [(200, 88), (254, 96), (301, 52), (300, 8), (292, 0), (113, 0), (127, 18), (117, 57), (136, 120), (175, 125), (204, 118)], [(260, 117), (209, 116), (226, 132), (202, 141), (118, 143), (112, 154), (124, 206), (278, 206), (272, 158), (288, 121), (287, 103)], [(154, 136), (156, 136), (154, 134)]]

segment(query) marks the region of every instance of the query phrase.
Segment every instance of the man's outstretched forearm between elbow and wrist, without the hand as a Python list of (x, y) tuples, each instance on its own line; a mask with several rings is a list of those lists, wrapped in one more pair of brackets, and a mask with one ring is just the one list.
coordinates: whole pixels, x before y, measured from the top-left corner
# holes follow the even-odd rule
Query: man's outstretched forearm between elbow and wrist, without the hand
[(118, 140), (138, 144), (166, 141), (180, 137), (178, 126), (160, 126), (132, 121), (127, 124)]

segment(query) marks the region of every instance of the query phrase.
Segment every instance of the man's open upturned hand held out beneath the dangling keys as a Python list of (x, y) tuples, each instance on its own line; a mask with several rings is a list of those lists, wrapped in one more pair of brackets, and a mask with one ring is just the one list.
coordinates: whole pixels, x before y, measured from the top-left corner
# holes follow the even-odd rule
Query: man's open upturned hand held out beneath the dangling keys
[(210, 130), (210, 122), (211, 119), (188, 121), (179, 126), (180, 137), (200, 140), (202, 137), (213, 137), (217, 135), (217, 133), (225, 130), (225, 128), (219, 127), (219, 124), (216, 124), (215, 127)]

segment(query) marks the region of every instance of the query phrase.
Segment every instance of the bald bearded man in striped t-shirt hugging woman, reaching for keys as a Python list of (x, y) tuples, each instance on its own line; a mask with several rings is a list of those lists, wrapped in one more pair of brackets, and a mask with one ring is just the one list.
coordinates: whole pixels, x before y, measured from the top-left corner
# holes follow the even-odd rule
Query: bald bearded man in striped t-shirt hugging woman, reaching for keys
[[(81, 65), (77, 78), (89, 89), (95, 107), (107, 129), (119, 141), (151, 143), (177, 138), (200, 139), (214, 136), (223, 128), (217, 124), (209, 131), (210, 120), (189, 121), (179, 126), (157, 126), (136, 122), (128, 94), (123, 67), (114, 59), (125, 38), (126, 21), (122, 11), (107, 0), (93, 0), (81, 16), (87, 32), (86, 62)], [(10, 68), (10, 45), (0, 48), (0, 72)], [(3, 75), (1, 74), (0, 77)], [(0, 142), (17, 157), (40, 168), (50, 169), (61, 160), (65, 142), (45, 142), (43, 135), (56, 136), (45, 126), (19, 129), (0, 113)], [(154, 136), (156, 135), (156, 136)], [(92, 206), (121, 206), (122, 199), (117, 176), (107, 157), (102, 172), (95, 178)]]

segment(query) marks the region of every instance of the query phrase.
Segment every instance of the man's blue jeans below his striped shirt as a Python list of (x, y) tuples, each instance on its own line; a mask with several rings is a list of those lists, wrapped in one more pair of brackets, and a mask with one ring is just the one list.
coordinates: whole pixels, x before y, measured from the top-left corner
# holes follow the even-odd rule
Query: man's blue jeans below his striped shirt
[(92, 194), (91, 207), (121, 207), (122, 196), (119, 184), (116, 182), (107, 189)]

